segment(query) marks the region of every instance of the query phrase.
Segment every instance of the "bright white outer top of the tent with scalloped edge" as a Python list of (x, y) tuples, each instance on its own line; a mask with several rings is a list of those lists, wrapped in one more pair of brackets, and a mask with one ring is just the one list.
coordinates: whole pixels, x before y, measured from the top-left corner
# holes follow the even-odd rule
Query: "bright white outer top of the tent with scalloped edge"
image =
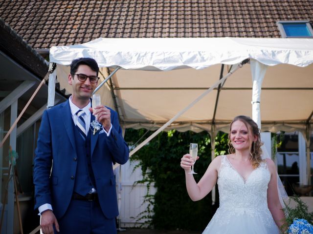
[(53, 46), (50, 62), (69, 65), (91, 57), (101, 67), (128, 70), (204, 69), (256, 59), (266, 65), (307, 66), (313, 62), (312, 39), (159, 38), (104, 39), (71, 46)]

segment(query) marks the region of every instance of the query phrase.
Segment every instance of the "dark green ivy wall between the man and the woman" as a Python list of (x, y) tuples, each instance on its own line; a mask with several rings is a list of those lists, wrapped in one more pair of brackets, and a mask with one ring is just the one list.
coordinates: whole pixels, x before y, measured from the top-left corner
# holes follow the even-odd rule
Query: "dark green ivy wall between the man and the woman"
[[(125, 140), (129, 145), (140, 139), (145, 129), (127, 129)], [(153, 132), (149, 132), (151, 135)], [(149, 136), (147, 134), (142, 140)], [(211, 162), (210, 136), (207, 132), (180, 133), (175, 130), (161, 132), (131, 158), (139, 160), (144, 179), (137, 183), (154, 183), (157, 189), (154, 197), (146, 196), (152, 206), (137, 217), (150, 218), (149, 225), (155, 229), (166, 230), (203, 230), (218, 207), (212, 206), (211, 193), (202, 200), (193, 202), (186, 191), (185, 175), (180, 168), (180, 158), (189, 152), (189, 143), (198, 143), (199, 160), (195, 164), (196, 181), (199, 181)], [(140, 142), (138, 142), (140, 143)], [(227, 134), (219, 133), (216, 137), (215, 155), (227, 152)]]

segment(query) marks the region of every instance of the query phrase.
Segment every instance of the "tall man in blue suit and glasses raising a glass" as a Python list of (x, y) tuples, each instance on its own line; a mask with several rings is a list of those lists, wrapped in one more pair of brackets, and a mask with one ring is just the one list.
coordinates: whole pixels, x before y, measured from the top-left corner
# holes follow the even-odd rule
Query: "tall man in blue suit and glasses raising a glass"
[(68, 75), (72, 96), (43, 114), (34, 184), (44, 234), (116, 233), (112, 163), (126, 163), (129, 150), (117, 113), (103, 105), (92, 113), (98, 73), (94, 59), (73, 60)]

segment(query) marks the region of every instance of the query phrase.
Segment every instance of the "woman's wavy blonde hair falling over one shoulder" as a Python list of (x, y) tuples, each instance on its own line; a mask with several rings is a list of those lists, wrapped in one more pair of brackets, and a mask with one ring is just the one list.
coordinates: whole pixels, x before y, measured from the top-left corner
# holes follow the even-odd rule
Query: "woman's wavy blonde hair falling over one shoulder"
[[(261, 146), (263, 145), (263, 142), (261, 142), (261, 134), (260, 134), (260, 129), (258, 128), (258, 125), (250, 118), (247, 116), (237, 116), (234, 117), (233, 121), (230, 123), (229, 126), (229, 133), (228, 133), (228, 153), (229, 154), (234, 154), (235, 153), (235, 148), (231, 144), (230, 140), (230, 132), (231, 132), (231, 125), (235, 121), (241, 121), (246, 125), (246, 128), (248, 129), (248, 134), (251, 132), (252, 137), (257, 137), (255, 141), (252, 141), (252, 144), (250, 145), (250, 155), (251, 155), (251, 164), (254, 168), (257, 168), (262, 161), (262, 149)], [(250, 137), (249, 137), (250, 139)]]

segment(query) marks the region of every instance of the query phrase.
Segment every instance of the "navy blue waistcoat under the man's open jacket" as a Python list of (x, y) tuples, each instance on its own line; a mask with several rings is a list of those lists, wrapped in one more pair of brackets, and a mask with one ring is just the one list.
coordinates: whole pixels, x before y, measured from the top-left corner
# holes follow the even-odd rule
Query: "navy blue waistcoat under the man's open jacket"
[[(73, 123), (74, 124), (74, 123)], [(91, 131), (89, 130), (86, 140), (78, 132), (74, 124), (74, 134), (77, 152), (77, 169), (75, 175), (74, 192), (80, 195), (86, 195), (91, 188), (95, 188), (95, 179), (91, 167), (91, 150), (90, 139)]]

